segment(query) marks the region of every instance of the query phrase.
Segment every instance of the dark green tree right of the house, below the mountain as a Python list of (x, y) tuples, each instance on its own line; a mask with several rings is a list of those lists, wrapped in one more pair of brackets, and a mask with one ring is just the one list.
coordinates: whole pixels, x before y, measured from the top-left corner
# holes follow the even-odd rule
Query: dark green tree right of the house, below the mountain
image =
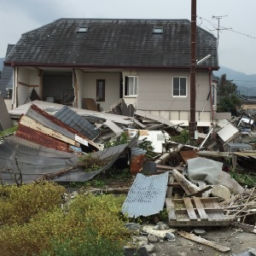
[(241, 99), (236, 95), (237, 86), (232, 81), (227, 80), (225, 73), (220, 77), (217, 112), (230, 112), (236, 115), (236, 110), (241, 108)]

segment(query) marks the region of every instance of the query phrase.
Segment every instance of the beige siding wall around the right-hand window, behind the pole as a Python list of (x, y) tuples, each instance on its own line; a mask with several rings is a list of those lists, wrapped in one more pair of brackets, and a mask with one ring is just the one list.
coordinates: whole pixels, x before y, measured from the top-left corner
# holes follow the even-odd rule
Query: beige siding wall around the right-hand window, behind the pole
[[(170, 119), (173, 123), (189, 125), (190, 73), (182, 71), (138, 71), (137, 109)], [(172, 96), (172, 78), (187, 78), (187, 96)], [(198, 126), (210, 125), (211, 99), (209, 73), (196, 73), (195, 119)]]

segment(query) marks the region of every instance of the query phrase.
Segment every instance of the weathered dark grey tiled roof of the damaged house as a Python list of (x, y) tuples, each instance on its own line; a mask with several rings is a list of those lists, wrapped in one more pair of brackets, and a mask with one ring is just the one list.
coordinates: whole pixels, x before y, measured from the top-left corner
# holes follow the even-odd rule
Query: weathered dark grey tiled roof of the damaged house
[[(89, 26), (87, 33), (77, 33)], [(162, 26), (162, 34), (154, 34)], [(187, 67), (190, 66), (189, 20), (60, 19), (26, 32), (7, 62), (28, 66)], [(201, 67), (218, 67), (217, 39), (197, 27)]]

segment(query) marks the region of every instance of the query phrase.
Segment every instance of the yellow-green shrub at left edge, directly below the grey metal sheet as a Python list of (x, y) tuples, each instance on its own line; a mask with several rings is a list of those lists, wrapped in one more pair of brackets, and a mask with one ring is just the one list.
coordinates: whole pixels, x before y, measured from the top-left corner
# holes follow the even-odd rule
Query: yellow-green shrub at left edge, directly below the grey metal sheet
[(64, 188), (56, 183), (31, 183), (0, 186), (0, 223), (22, 224), (38, 212), (61, 206)]

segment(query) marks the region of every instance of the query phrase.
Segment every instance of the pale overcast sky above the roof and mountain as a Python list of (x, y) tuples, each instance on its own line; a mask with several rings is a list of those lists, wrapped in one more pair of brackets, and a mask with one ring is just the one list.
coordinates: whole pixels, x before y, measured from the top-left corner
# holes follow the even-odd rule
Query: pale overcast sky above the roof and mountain
[[(256, 74), (256, 0), (197, 0), (197, 16), (216, 37), (219, 21), (220, 66)], [(191, 0), (0, 0), (0, 57), (22, 33), (60, 18), (191, 20)]]

